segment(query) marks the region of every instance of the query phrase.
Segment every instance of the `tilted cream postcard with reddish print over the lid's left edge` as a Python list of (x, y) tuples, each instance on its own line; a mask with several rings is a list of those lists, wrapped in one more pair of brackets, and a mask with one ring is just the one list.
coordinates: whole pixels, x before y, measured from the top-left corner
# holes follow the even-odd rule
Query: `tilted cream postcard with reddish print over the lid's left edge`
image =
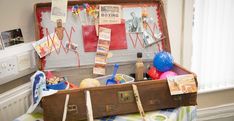
[(34, 49), (36, 50), (37, 54), (40, 58), (45, 57), (49, 53), (53, 52), (60, 47), (60, 40), (55, 33), (52, 33), (42, 39), (32, 43)]

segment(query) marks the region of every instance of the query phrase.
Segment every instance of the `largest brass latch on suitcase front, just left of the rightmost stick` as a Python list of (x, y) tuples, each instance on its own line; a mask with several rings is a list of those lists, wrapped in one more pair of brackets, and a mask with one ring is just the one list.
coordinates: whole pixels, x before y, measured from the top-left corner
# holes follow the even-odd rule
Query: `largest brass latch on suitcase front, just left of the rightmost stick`
[(119, 98), (119, 103), (134, 102), (133, 91), (119, 91), (118, 98)]

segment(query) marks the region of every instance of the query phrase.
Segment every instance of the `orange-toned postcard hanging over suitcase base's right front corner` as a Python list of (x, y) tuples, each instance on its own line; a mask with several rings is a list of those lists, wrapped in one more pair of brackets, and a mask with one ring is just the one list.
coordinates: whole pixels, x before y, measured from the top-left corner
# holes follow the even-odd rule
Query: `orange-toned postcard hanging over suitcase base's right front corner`
[(197, 92), (196, 81), (192, 74), (167, 77), (167, 82), (171, 95)]

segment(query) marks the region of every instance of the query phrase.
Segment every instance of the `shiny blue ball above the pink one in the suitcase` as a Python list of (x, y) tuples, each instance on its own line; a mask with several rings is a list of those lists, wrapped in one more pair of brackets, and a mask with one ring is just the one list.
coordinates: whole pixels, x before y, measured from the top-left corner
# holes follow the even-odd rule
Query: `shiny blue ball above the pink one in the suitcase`
[(173, 57), (170, 53), (162, 51), (156, 53), (153, 64), (160, 72), (166, 72), (173, 67)]

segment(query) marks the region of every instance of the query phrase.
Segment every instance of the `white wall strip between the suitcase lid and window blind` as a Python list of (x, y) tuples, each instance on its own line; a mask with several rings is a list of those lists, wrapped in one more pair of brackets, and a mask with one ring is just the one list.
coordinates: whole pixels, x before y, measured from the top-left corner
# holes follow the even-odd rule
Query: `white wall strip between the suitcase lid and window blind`
[(166, 8), (172, 55), (177, 63), (190, 69), (194, 0), (163, 0)]

